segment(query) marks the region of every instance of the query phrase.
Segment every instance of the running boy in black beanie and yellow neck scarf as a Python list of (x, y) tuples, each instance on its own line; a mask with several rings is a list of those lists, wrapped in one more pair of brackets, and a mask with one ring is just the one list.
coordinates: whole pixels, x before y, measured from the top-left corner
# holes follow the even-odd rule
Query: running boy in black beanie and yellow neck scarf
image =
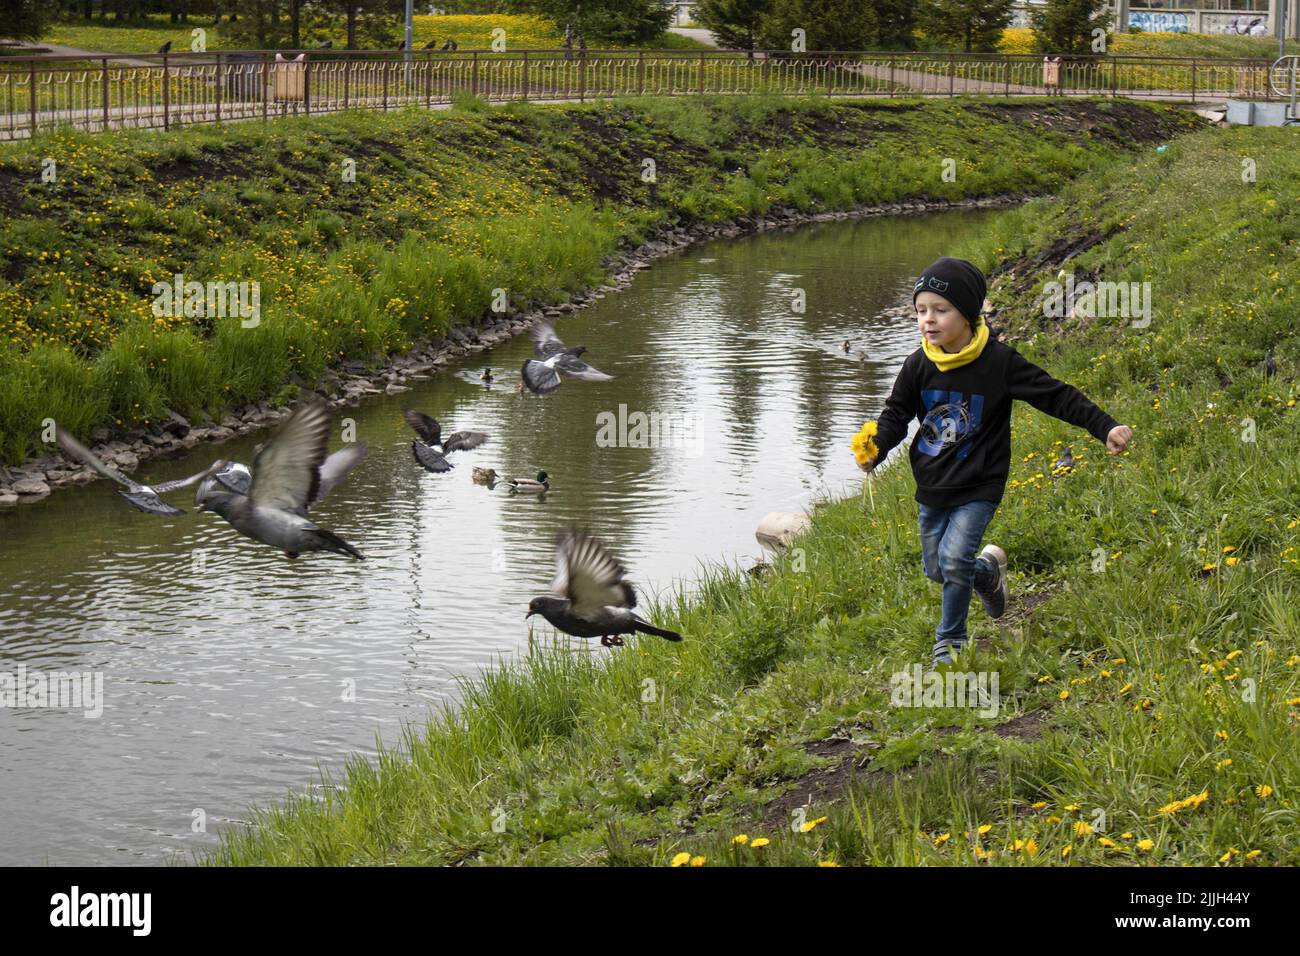
[(1118, 455), (1132, 438), (1072, 385), (1057, 381), (1019, 352), (989, 336), (980, 319), (984, 274), (965, 259), (944, 256), (916, 280), (920, 349), (909, 355), (885, 401), (870, 472), (907, 437), (913, 418), (920, 429), (909, 458), (920, 503), (922, 570), (944, 585), (942, 613), (931, 666), (950, 663), (966, 644), (971, 591), (989, 617), (1006, 610), (1006, 553), (975, 549), (993, 518), (1011, 470), (1011, 399), (1086, 428)]

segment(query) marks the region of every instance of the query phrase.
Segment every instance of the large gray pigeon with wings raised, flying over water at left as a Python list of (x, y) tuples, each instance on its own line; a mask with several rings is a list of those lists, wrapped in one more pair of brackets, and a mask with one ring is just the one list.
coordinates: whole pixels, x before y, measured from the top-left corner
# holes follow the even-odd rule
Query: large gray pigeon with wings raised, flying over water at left
[(364, 445), (344, 449), (348, 454), (342, 459), (332, 457), (337, 464), (328, 470), (325, 447), (329, 428), (329, 406), (325, 402), (302, 406), (257, 451), (247, 494), (221, 492), (211, 484), (200, 485), (194, 503), (200, 511), (221, 515), (240, 535), (278, 548), (290, 558), (303, 551), (364, 558), (338, 535), (307, 519), (307, 510), (365, 455)]

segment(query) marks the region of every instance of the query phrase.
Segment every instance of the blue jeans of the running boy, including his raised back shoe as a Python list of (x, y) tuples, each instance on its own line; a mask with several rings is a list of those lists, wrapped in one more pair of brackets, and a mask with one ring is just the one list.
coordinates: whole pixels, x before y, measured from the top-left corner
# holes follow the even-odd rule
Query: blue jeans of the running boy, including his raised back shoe
[(992, 501), (970, 501), (952, 507), (920, 506), (922, 570), (944, 585), (944, 609), (935, 631), (936, 650), (945, 643), (954, 650), (966, 643), (971, 591), (988, 589), (997, 580), (997, 568), (987, 558), (975, 558), (994, 511), (997, 505)]

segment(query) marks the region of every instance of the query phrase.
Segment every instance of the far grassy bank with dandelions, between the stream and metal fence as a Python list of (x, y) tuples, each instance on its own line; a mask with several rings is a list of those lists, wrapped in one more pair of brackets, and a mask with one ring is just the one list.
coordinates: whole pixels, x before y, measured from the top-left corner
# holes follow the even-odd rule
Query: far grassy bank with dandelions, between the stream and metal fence
[[(46, 418), (74, 433), (168, 408), (220, 418), (473, 324), (494, 289), (517, 307), (563, 300), (664, 224), (1049, 191), (1195, 122), (1126, 103), (471, 100), (10, 144), (0, 463), (40, 453)], [(56, 182), (42, 181), (46, 159)], [(260, 284), (260, 323), (155, 315), (153, 284), (176, 273)]]

